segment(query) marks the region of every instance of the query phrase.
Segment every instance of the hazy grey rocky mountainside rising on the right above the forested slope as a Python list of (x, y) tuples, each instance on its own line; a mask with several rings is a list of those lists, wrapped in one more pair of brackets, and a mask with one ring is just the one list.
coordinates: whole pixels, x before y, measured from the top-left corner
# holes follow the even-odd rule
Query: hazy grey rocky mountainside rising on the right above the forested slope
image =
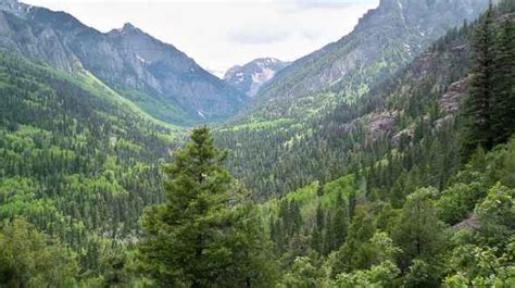
[(238, 118), (318, 115), (352, 102), (449, 28), (474, 20), (488, 0), (381, 0), (353, 32), (277, 73)]

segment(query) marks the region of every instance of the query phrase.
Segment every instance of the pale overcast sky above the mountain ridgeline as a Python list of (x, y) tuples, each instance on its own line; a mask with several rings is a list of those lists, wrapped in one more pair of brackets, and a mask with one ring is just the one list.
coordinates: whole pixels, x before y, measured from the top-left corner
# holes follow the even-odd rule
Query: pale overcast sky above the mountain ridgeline
[(101, 32), (130, 22), (204, 68), (255, 58), (292, 61), (348, 34), (379, 0), (21, 0)]

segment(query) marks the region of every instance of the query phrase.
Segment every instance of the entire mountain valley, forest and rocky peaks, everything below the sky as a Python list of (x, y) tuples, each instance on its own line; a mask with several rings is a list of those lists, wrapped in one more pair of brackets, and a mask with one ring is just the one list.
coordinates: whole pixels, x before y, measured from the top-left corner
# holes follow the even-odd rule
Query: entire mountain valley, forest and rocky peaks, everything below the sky
[(218, 78), (0, 3), (0, 287), (513, 287), (513, 0), (381, 0)]

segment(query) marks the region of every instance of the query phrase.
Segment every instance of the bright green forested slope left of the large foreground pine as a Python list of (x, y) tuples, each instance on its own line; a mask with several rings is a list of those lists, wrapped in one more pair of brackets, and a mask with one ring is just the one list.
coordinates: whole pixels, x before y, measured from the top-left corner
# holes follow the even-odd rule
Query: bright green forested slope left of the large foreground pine
[(0, 54), (0, 218), (25, 217), (97, 271), (98, 251), (128, 241), (161, 199), (160, 163), (179, 135), (91, 74), (11, 52)]

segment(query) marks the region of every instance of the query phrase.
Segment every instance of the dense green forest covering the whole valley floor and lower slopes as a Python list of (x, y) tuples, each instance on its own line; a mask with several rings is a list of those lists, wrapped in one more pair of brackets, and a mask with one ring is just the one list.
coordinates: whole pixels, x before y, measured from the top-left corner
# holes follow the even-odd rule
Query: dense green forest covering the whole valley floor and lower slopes
[(190, 132), (2, 51), (0, 287), (515, 287), (514, 15), (307, 121)]

